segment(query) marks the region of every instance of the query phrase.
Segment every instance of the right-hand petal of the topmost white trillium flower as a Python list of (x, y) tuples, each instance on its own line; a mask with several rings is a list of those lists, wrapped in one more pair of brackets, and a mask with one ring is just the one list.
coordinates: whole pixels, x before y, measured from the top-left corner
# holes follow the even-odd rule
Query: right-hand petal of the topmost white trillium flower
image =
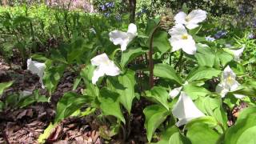
[(187, 18), (189, 19), (188, 23), (197, 24), (202, 22), (206, 19), (206, 14), (205, 10), (192, 10), (190, 14), (187, 15)]

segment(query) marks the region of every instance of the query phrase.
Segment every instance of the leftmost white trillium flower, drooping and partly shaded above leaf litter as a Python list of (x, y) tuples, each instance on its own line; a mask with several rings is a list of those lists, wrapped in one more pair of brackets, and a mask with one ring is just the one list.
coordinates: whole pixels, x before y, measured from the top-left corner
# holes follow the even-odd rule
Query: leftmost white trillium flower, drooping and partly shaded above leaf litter
[(42, 62), (32, 61), (31, 58), (26, 61), (27, 70), (30, 70), (32, 74), (38, 74), (39, 82), (42, 85), (42, 89), (45, 88), (42, 82), (43, 73), (46, 68), (46, 64)]

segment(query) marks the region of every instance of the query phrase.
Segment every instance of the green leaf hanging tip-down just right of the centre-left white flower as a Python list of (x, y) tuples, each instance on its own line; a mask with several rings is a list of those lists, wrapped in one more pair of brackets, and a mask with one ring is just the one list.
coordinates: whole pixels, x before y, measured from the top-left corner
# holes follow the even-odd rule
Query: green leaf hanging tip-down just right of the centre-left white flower
[[(126, 74), (119, 75), (117, 81), (114, 78), (110, 78), (110, 83), (113, 87), (113, 91), (116, 91), (120, 96), (120, 102), (122, 106), (126, 108), (130, 114), (130, 110), (135, 98), (134, 86), (135, 86), (135, 72), (132, 70), (126, 71)], [(121, 84), (121, 85), (120, 85)]]

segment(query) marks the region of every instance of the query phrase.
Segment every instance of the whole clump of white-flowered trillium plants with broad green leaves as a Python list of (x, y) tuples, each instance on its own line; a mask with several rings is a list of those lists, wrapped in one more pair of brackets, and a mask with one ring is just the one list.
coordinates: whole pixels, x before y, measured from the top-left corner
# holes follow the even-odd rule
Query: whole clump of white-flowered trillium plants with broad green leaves
[[(256, 131), (253, 98), (256, 83), (246, 76), (242, 67), (241, 57), (246, 46), (219, 48), (214, 38), (197, 35), (206, 16), (204, 10), (179, 12), (168, 31), (161, 28), (159, 19), (149, 21), (146, 31), (134, 23), (129, 24), (126, 32), (110, 31), (108, 44), (115, 50), (86, 51), (88, 60), (78, 70), (80, 79), (75, 83), (77, 86), (83, 81), (82, 94), (63, 95), (49, 129), (70, 115), (95, 115), (99, 110), (101, 118), (108, 119), (110, 129), (114, 129), (111, 136), (122, 134), (126, 141), (137, 109), (134, 103), (146, 101), (150, 104), (143, 107), (142, 115), (148, 142), (233, 144), (251, 141)], [(166, 56), (172, 60), (174, 55), (178, 55), (176, 61), (166, 62)], [(138, 59), (144, 61), (136, 63)], [(190, 62), (191, 66), (184, 62)], [(42, 87), (53, 90), (56, 82), (50, 79), (49, 71), (54, 62), (29, 59), (27, 63), (28, 70), (40, 77)], [(241, 102), (249, 107), (241, 110), (234, 125), (229, 126), (230, 110)], [(84, 106), (89, 110), (86, 114), (82, 113)], [(44, 142), (46, 135), (38, 141)]]

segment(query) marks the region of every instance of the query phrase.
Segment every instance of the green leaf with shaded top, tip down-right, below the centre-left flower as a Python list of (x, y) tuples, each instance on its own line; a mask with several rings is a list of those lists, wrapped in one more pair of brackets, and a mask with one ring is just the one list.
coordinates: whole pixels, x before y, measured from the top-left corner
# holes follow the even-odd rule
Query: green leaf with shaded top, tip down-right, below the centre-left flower
[(123, 123), (126, 123), (126, 120), (122, 115), (122, 110), (120, 109), (118, 100), (119, 94), (103, 88), (100, 90), (100, 95), (99, 102), (102, 113), (104, 115), (112, 115), (120, 119)]

